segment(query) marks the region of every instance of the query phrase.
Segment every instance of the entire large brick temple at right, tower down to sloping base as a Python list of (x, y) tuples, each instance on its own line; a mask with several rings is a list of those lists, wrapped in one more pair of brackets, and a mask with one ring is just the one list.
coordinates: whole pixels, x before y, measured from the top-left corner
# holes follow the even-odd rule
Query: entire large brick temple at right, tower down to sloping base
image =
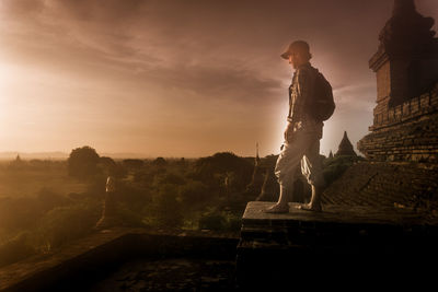
[(438, 211), (438, 38), (413, 0), (395, 0), (369, 67), (377, 75), (370, 133), (325, 203)]

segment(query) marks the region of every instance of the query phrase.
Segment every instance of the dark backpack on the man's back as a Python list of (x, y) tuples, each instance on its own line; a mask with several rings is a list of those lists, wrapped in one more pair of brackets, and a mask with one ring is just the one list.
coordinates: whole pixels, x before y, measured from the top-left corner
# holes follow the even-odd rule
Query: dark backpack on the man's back
[(314, 92), (307, 102), (307, 112), (318, 121), (327, 120), (335, 110), (333, 90), (325, 77), (315, 69)]

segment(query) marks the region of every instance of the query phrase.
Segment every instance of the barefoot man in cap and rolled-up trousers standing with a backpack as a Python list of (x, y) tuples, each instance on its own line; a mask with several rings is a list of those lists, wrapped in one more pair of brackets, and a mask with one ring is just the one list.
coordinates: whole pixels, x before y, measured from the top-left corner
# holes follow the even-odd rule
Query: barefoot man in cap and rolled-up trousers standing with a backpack
[[(292, 84), (289, 86), (289, 115), (285, 130), (285, 142), (275, 166), (280, 194), (277, 203), (268, 208), (266, 212), (289, 212), (287, 194), (293, 191), (295, 176), (300, 164), (302, 174), (306, 175), (312, 186), (310, 203), (301, 206), (301, 209), (321, 211), (321, 192), (325, 183), (321, 172), (320, 139), (322, 138), (323, 120), (327, 118), (327, 114), (325, 113), (323, 118), (318, 115), (318, 110), (324, 106), (324, 104), (319, 104), (321, 100), (324, 103), (324, 98), (320, 98), (321, 95), (324, 95), (324, 93), (321, 94), (324, 90), (321, 90), (320, 84), (322, 83), (320, 81), (324, 80), (325, 92), (330, 90), (328, 95), (332, 94), (332, 87), (318, 69), (310, 65), (312, 55), (308, 43), (303, 40), (293, 42), (281, 57), (289, 60), (295, 73)], [(328, 110), (333, 113), (333, 95), (331, 96), (332, 101), (330, 102), (328, 97), (328, 106), (333, 109)], [(325, 98), (326, 101), (327, 98)]]

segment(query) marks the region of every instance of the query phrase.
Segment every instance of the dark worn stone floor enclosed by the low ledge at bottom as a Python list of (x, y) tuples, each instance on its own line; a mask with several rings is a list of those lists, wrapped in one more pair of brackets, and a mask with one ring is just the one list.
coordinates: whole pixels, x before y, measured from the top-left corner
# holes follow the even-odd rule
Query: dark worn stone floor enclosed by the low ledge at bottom
[(124, 264), (89, 291), (234, 291), (234, 260), (142, 259)]

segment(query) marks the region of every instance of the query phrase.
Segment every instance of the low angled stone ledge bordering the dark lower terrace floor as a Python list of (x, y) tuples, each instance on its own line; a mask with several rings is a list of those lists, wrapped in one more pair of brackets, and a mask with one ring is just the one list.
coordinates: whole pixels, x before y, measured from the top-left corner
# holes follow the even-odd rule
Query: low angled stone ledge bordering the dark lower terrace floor
[(193, 256), (234, 258), (235, 236), (143, 229), (104, 230), (54, 253), (0, 269), (0, 291), (47, 291), (93, 282), (123, 262), (141, 257)]

